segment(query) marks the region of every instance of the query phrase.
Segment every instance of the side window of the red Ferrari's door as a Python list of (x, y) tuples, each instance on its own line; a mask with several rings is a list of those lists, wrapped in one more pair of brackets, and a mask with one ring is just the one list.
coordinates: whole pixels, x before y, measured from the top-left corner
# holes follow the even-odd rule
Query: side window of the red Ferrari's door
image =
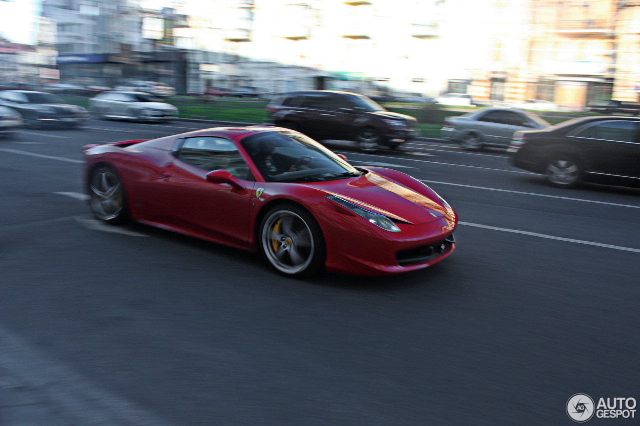
[(227, 170), (239, 179), (255, 180), (236, 145), (227, 139), (187, 138), (175, 156), (206, 171)]

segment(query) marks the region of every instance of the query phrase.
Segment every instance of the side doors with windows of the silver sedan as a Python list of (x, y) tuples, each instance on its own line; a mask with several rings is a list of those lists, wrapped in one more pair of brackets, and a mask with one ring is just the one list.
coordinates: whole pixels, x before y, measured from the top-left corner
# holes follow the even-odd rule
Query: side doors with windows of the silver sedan
[(476, 120), (483, 142), (491, 145), (509, 146), (516, 130), (537, 128), (524, 114), (516, 111), (487, 111), (477, 116)]

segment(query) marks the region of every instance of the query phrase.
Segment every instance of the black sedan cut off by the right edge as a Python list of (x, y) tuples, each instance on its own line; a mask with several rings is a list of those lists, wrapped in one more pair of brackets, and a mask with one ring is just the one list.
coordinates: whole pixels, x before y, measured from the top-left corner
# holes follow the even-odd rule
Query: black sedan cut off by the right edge
[(583, 117), (544, 130), (518, 131), (513, 164), (557, 187), (582, 181), (640, 187), (640, 118)]

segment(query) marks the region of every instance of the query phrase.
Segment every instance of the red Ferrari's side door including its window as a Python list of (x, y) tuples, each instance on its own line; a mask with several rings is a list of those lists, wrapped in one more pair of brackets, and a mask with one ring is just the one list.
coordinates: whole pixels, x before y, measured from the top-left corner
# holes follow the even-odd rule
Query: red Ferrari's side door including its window
[[(227, 170), (244, 185), (207, 181), (213, 170)], [(228, 244), (248, 240), (255, 179), (236, 146), (214, 137), (182, 139), (175, 160), (166, 164), (159, 183), (166, 221), (188, 232), (204, 233)]]

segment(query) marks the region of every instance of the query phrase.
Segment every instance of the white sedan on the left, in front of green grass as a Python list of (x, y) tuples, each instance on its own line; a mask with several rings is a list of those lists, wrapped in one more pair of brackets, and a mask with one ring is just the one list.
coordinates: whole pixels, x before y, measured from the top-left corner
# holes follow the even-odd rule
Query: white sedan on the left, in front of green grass
[(100, 118), (168, 121), (178, 115), (178, 109), (164, 100), (140, 91), (104, 91), (89, 99), (92, 112)]

